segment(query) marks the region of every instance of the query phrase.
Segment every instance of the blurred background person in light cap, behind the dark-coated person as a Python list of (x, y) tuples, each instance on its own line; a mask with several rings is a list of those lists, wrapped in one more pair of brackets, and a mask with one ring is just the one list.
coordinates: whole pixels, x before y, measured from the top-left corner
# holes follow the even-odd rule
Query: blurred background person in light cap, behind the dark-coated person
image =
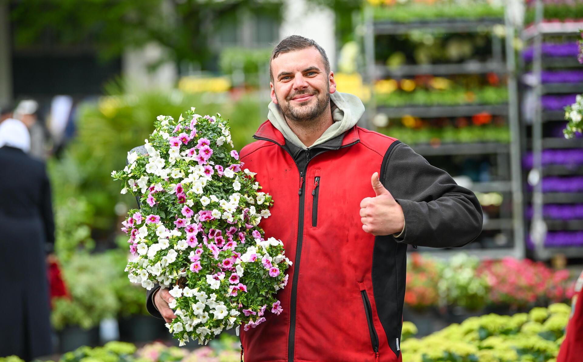
[(13, 118), (21, 120), (29, 129), (30, 151), (29, 155), (38, 159), (45, 159), (46, 130), (37, 117), (38, 102), (35, 100), (22, 100), (14, 109)]

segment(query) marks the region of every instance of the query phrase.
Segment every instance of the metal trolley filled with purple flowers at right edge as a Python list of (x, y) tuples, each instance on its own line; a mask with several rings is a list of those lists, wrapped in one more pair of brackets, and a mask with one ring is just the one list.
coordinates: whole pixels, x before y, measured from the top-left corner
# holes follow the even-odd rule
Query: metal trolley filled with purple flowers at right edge
[[(554, 8), (576, 3), (553, 3)], [(583, 16), (556, 19), (542, 1), (531, 1), (521, 38), (526, 246), (539, 260), (583, 257), (583, 139), (565, 139), (563, 108), (583, 93), (577, 40)], [(548, 13), (548, 14), (547, 14)]]

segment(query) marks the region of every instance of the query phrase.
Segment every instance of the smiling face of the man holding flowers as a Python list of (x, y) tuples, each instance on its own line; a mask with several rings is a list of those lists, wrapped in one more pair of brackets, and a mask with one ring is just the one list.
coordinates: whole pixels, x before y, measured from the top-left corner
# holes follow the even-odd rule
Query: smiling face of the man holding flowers
[(283, 53), (271, 62), (271, 99), (287, 119), (313, 120), (330, 104), (336, 91), (334, 74), (326, 74), (324, 61), (316, 48)]

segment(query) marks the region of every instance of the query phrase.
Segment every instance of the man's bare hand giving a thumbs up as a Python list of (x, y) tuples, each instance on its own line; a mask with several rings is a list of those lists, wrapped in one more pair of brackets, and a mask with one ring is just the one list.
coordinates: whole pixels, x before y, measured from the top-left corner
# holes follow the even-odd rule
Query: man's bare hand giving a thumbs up
[(360, 221), (363, 223), (363, 230), (375, 236), (400, 233), (405, 226), (405, 215), (401, 205), (382, 186), (377, 172), (373, 173), (371, 183), (376, 196), (366, 197), (360, 201)]

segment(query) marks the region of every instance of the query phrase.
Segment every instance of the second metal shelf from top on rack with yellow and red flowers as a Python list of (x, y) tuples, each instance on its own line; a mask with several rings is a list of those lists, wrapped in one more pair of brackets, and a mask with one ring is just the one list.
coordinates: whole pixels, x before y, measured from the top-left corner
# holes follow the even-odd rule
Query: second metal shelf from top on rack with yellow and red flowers
[(426, 65), (402, 65), (398, 68), (389, 68), (384, 65), (375, 66), (375, 75), (384, 77), (413, 76), (417, 74), (451, 75), (451, 74), (480, 74), (507, 72), (504, 63), (496, 61), (465, 62), (460, 64), (426, 64)]

